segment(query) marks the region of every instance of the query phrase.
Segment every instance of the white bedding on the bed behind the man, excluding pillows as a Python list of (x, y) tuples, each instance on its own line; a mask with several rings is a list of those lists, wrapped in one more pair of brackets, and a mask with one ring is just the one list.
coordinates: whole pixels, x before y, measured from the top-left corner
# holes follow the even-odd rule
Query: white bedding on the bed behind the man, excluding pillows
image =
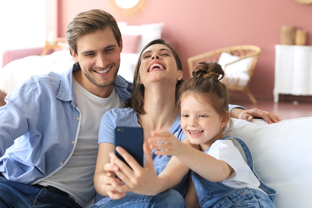
[[(133, 81), (139, 55), (139, 53), (121, 53), (118, 74), (126, 80)], [(50, 55), (32, 55), (13, 60), (0, 69), (0, 89), (7, 94), (32, 75), (49, 71), (62, 73), (72, 64), (74, 60), (69, 51), (55, 51)]]

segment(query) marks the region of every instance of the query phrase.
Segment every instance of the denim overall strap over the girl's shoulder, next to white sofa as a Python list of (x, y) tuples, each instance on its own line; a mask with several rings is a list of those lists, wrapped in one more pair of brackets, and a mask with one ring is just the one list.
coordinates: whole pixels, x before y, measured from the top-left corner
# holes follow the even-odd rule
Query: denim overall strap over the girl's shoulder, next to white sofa
[(246, 163), (248, 164), (248, 166), (250, 167), (250, 169), (252, 170), (254, 175), (260, 181), (260, 187), (259, 188), (262, 189), (265, 193), (267, 193), (267, 195), (274, 202), (277, 193), (276, 193), (276, 191), (274, 189), (272, 189), (271, 187), (268, 187), (267, 185), (265, 185), (261, 181), (261, 179), (259, 178), (259, 176), (256, 173), (256, 171), (254, 170), (254, 162), (253, 162), (252, 155), (251, 155), (251, 152), (250, 152), (247, 144), (241, 138), (238, 138), (238, 137), (227, 136), (227, 137), (223, 138), (223, 140), (228, 140), (228, 139), (233, 142), (233, 144), (239, 150), (239, 152), (243, 156), (244, 160), (246, 161)]

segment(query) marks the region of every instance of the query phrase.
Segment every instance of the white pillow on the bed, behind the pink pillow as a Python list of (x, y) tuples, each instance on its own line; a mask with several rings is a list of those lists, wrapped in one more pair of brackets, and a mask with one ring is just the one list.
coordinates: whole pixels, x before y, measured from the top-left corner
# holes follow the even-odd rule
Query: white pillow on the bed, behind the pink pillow
[(122, 35), (123, 34), (141, 35), (141, 40), (138, 44), (137, 53), (141, 53), (142, 49), (150, 41), (161, 38), (162, 27), (163, 22), (141, 24), (141, 25), (125, 25), (125, 24), (119, 25), (119, 29)]

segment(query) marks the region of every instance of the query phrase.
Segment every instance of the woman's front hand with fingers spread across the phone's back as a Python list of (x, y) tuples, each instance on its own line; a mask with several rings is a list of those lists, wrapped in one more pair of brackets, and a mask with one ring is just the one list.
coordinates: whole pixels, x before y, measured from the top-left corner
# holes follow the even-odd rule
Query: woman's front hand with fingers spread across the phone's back
[[(125, 164), (114, 153), (110, 153), (112, 168), (118, 178), (124, 183), (116, 183), (111, 181), (114, 193), (118, 194), (125, 192), (134, 192), (144, 195), (156, 195), (159, 193), (157, 181), (159, 178), (154, 169), (152, 158), (152, 151), (146, 143), (143, 144), (143, 151), (145, 153), (145, 165), (140, 166), (137, 161), (122, 147), (116, 147), (116, 151), (125, 159), (129, 164)], [(118, 196), (117, 194), (117, 196)]]

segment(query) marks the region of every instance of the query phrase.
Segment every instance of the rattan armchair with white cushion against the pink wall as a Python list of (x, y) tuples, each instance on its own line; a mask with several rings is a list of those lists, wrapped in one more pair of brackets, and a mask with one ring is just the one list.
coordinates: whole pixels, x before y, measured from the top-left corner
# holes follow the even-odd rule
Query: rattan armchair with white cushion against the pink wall
[[(189, 57), (187, 59), (187, 63), (188, 63), (188, 70), (190, 73), (190, 77), (192, 76), (193, 69), (200, 61), (219, 62), (219, 58), (222, 52), (227, 52), (228, 54), (231, 54), (232, 56), (237, 56), (237, 60), (225, 63), (224, 66), (222, 66), (222, 64), (220, 63), (220, 65), (222, 66), (225, 72), (225, 76), (222, 79), (222, 82), (227, 86), (229, 90), (242, 91), (249, 97), (249, 99), (251, 100), (253, 104), (256, 104), (257, 100), (251, 94), (249, 90), (249, 85), (250, 85), (251, 77), (254, 73), (254, 69), (257, 65), (259, 55), (261, 53), (261, 48), (259, 46), (237, 45), (237, 46), (231, 46), (231, 47), (224, 47), (224, 48), (215, 49), (209, 52), (205, 52), (202, 54)], [(242, 61), (247, 61), (247, 60), (249, 62), (246, 67), (246, 70), (244, 69), (244, 72), (237, 70), (237, 69), (234, 70), (234, 66), (236, 66), (237, 68), (239, 66), (238, 65), (239, 63), (242, 63)]]

